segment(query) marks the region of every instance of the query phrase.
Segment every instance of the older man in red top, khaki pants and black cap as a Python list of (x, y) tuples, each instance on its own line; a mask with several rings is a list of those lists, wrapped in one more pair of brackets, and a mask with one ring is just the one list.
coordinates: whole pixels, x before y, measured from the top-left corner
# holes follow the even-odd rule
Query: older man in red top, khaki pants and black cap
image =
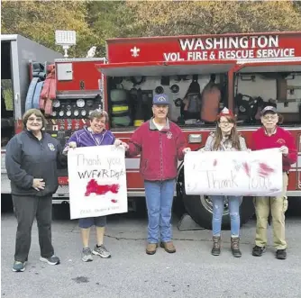
[(261, 112), (262, 127), (253, 132), (251, 149), (279, 148), (282, 152), (283, 191), (278, 197), (256, 197), (254, 199), (257, 217), (255, 247), (252, 255), (261, 257), (266, 250), (269, 212), (272, 215), (274, 246), (278, 259), (287, 258), (285, 239), (285, 212), (287, 211), (288, 170), (296, 163), (297, 152), (294, 137), (289, 131), (278, 127), (278, 113), (275, 107), (267, 106)]

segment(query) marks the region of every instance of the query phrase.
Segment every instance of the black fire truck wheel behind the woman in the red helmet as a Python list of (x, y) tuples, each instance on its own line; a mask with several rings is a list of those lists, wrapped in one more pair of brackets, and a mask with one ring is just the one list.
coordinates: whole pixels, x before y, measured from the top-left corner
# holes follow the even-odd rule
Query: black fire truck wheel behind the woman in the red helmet
[[(182, 180), (184, 181), (184, 179)], [(181, 188), (181, 189), (180, 189)], [(211, 230), (212, 229), (212, 211), (213, 205), (210, 196), (205, 195), (187, 195), (185, 192), (184, 182), (178, 182), (178, 195), (181, 195), (186, 212), (191, 218), (196, 221), (201, 227)], [(251, 197), (244, 197), (241, 203), (241, 225), (251, 219), (254, 215), (254, 205)], [(223, 210), (223, 230), (230, 230), (230, 216), (228, 202), (224, 200)]]

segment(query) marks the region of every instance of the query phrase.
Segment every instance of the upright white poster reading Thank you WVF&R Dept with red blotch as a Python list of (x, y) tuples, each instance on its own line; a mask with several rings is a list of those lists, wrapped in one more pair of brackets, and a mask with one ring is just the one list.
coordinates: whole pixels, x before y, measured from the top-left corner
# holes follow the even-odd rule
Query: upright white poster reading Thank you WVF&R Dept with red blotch
[(71, 219), (127, 212), (124, 149), (85, 147), (68, 151)]

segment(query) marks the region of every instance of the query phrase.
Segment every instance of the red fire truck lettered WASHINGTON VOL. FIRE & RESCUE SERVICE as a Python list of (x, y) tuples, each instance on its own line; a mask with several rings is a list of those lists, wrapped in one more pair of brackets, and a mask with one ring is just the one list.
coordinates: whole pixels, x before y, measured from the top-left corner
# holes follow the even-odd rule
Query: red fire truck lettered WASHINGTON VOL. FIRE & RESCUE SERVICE
[[(192, 150), (205, 146), (216, 125), (214, 111), (225, 106), (233, 110), (238, 130), (249, 144), (252, 131), (260, 127), (260, 110), (277, 106), (282, 115), (279, 125), (293, 134), (298, 149), (287, 196), (301, 201), (301, 32), (110, 39), (106, 58), (55, 59), (54, 65), (55, 98), (47, 131), (62, 145), (86, 125), (88, 113), (97, 107), (109, 113), (108, 128), (115, 137), (127, 142), (150, 119), (155, 94), (169, 95), (169, 119), (184, 131)], [(221, 97), (202, 102), (210, 86), (218, 87)], [(200, 106), (195, 102), (189, 107), (187, 97), (197, 99)], [(16, 131), (21, 124), (16, 117)], [(139, 202), (144, 198), (140, 158), (126, 158), (125, 164), (129, 202)], [(186, 194), (183, 162), (178, 162), (175, 197), (194, 221), (210, 229), (210, 196)], [(67, 172), (60, 173), (53, 197), (53, 203), (64, 202), (68, 202)], [(224, 203), (226, 229), (230, 226), (226, 198)], [(243, 198), (242, 223), (253, 213), (251, 198)]]

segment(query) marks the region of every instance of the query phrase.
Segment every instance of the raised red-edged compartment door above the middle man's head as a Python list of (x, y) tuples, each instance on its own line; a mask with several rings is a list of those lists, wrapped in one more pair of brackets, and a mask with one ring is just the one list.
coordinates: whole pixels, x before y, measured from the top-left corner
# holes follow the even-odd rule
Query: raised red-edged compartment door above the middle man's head
[(96, 65), (108, 77), (176, 76), (226, 73), (235, 66), (234, 61), (177, 61), (148, 63), (112, 63)]

